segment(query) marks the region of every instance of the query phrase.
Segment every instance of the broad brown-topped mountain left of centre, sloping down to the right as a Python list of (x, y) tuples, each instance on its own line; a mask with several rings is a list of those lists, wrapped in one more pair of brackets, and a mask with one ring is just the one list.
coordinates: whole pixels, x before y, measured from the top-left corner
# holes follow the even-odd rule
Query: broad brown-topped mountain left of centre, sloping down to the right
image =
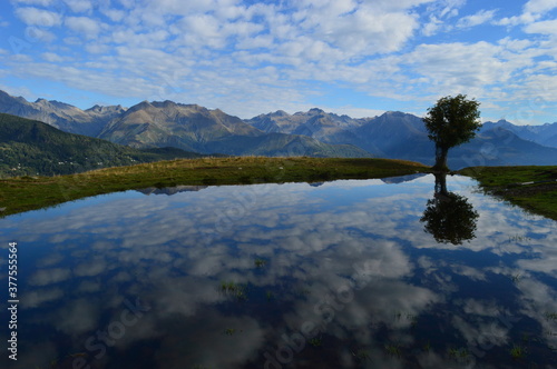
[(370, 157), (350, 144), (332, 146), (306, 136), (266, 133), (221, 110), (172, 101), (144, 101), (131, 107), (113, 119), (99, 137), (136, 148), (168, 146), (201, 153)]

